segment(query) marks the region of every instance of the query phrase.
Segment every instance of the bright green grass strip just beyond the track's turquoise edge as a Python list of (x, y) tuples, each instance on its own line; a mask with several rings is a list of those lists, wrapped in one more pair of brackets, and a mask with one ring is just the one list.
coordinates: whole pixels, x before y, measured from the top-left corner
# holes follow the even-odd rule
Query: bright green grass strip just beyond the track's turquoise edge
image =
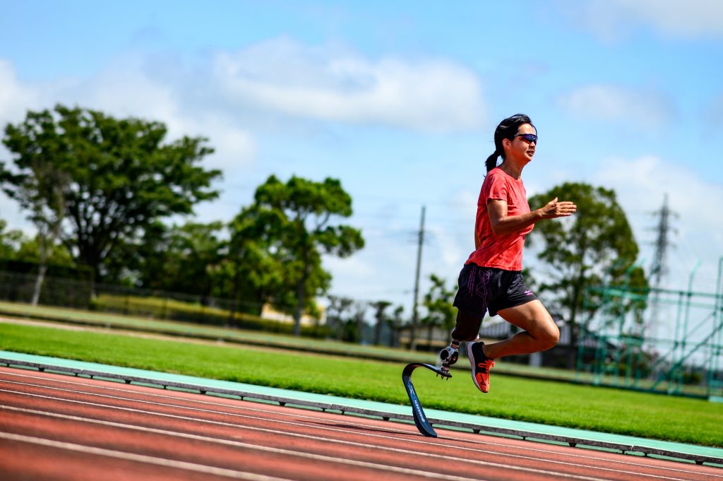
[[(288, 351), (141, 339), (0, 323), (0, 349), (86, 362), (407, 404), (402, 364)], [(461, 362), (466, 362), (462, 360)], [(426, 408), (703, 446), (723, 446), (723, 405), (698, 399), (496, 376), (489, 394), (469, 373), (415, 376)]]

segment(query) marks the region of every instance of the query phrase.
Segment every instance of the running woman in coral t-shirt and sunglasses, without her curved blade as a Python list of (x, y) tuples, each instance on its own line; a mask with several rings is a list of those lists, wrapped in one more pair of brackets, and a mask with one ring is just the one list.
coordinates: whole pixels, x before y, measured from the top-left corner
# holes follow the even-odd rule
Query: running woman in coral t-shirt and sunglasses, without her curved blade
[[(442, 349), (442, 369), (458, 358), (459, 344), (467, 341), (472, 379), (483, 393), (489, 391), (489, 368), (495, 359), (511, 354), (530, 354), (557, 345), (560, 330), (522, 278), (525, 236), (536, 222), (568, 217), (576, 211), (572, 202), (552, 199), (530, 211), (522, 169), (532, 161), (537, 131), (529, 116), (516, 114), (495, 129), (495, 152), (487, 158), (487, 176), (477, 201), (474, 228), (475, 250), (459, 275), (454, 300), (458, 308), (452, 342)], [(502, 163), (497, 166), (497, 157)], [(523, 331), (504, 341), (484, 344), (479, 339), (484, 312), (499, 314)]]

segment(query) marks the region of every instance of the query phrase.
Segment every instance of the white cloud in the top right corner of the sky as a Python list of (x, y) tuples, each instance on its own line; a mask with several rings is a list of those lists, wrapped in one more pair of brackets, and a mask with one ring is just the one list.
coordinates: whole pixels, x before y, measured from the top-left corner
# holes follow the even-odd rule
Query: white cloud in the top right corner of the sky
[(723, 36), (723, 2), (718, 0), (594, 0), (573, 6), (572, 16), (606, 40), (628, 35), (636, 23), (672, 38)]

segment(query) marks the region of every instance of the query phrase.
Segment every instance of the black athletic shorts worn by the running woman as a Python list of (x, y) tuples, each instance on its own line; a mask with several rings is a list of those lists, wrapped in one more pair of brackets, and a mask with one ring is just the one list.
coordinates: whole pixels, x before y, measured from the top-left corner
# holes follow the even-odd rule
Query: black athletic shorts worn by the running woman
[(459, 273), (459, 290), (454, 299), (454, 306), (461, 311), (484, 317), (508, 307), (526, 304), (537, 299), (535, 294), (525, 285), (520, 271), (479, 267), (467, 264)]

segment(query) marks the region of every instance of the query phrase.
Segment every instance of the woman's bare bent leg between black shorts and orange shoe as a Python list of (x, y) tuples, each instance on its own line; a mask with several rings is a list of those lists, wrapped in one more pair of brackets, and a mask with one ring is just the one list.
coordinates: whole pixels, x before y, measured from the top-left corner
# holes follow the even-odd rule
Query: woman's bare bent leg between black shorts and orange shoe
[(508, 323), (523, 329), (523, 332), (504, 341), (484, 344), (482, 351), (489, 359), (546, 351), (555, 347), (560, 340), (560, 330), (539, 300), (502, 309), (498, 314)]

